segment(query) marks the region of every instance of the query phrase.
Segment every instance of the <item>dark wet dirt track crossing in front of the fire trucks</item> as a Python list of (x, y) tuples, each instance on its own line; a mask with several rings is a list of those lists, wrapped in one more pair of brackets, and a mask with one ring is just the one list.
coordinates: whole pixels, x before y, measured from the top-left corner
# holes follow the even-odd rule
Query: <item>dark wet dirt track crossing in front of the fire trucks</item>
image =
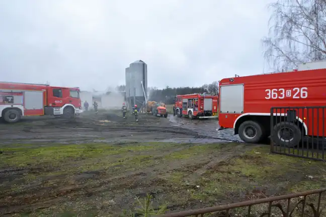
[(90, 112), (73, 120), (27, 118), (15, 125), (0, 125), (0, 142), (239, 142), (230, 131), (217, 132), (217, 120), (190, 121), (172, 115), (167, 119), (140, 115), (139, 123), (135, 123), (132, 117), (123, 120), (119, 115), (100, 112), (95, 116)]

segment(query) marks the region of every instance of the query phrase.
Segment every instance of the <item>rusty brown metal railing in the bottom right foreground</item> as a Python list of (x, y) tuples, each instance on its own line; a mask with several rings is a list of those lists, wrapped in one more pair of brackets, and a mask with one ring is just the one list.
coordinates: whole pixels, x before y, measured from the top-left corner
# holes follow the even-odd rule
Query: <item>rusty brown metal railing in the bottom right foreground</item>
[[(175, 212), (160, 217), (185, 216), (313, 216), (326, 215), (324, 196), (326, 188), (292, 193), (281, 196), (267, 197), (226, 205)], [(207, 214), (207, 215), (205, 215)]]

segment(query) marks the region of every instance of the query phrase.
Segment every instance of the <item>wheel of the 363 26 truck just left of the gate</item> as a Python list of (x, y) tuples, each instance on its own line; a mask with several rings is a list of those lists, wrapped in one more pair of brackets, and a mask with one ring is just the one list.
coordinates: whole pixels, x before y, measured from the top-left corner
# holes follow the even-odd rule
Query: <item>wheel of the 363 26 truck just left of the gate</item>
[(239, 126), (239, 137), (246, 143), (259, 143), (263, 138), (263, 129), (255, 121), (245, 121)]

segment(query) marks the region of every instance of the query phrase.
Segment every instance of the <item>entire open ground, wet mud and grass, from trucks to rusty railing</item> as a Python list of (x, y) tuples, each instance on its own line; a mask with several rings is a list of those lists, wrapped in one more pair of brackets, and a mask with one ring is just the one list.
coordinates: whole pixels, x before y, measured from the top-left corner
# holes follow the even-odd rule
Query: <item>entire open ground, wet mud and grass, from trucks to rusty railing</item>
[(326, 166), (238, 142), (217, 120), (84, 113), (0, 124), (0, 215), (112, 216), (153, 196), (170, 211), (325, 186)]

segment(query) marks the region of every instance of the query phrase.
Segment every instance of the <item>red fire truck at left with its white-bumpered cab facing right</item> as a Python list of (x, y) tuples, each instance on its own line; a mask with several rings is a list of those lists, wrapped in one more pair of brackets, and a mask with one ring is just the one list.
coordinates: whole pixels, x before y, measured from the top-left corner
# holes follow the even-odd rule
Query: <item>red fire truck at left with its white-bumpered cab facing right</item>
[(82, 113), (79, 88), (0, 82), (0, 118), (18, 122), (22, 116), (67, 116)]

